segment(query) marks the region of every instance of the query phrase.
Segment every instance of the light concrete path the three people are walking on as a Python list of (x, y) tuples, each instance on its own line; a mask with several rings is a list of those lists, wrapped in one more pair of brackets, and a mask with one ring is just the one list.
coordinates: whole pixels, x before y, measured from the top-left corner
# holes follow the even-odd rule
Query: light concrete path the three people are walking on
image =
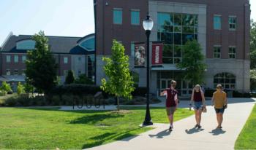
[(224, 114), (223, 129), (217, 130), (214, 108), (208, 106), (203, 114), (201, 130), (195, 130), (195, 116), (174, 123), (172, 133), (166, 129), (167, 124), (156, 124), (154, 130), (132, 138), (108, 143), (91, 148), (91, 150), (135, 150), (135, 149), (233, 149), (236, 138), (249, 117), (255, 100), (230, 100)]

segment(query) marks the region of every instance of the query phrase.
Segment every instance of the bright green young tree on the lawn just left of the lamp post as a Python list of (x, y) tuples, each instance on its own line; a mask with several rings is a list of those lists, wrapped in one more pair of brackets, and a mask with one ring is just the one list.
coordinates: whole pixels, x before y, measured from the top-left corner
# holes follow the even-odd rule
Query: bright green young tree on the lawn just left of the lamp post
[(102, 90), (115, 95), (117, 98), (117, 110), (119, 111), (119, 98), (131, 99), (133, 87), (132, 75), (129, 71), (129, 57), (124, 54), (124, 46), (113, 40), (110, 58), (102, 58), (105, 62), (103, 70), (107, 79), (102, 79)]

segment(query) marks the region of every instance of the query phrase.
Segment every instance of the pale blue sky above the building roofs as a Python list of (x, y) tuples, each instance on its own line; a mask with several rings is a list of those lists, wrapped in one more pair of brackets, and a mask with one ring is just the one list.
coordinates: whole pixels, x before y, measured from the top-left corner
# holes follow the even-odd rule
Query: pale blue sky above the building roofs
[[(256, 20), (256, 0), (250, 0)], [(8, 34), (86, 36), (94, 33), (93, 0), (0, 0), (0, 47)]]

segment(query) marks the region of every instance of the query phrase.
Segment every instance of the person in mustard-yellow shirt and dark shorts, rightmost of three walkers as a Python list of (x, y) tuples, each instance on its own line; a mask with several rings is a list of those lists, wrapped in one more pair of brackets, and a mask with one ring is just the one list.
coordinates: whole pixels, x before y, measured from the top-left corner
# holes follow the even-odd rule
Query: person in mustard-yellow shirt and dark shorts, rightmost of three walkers
[(225, 108), (227, 108), (227, 93), (222, 90), (222, 85), (217, 85), (217, 91), (214, 92), (213, 97), (211, 98), (212, 106), (214, 106), (217, 114), (217, 122), (219, 129), (222, 128), (223, 113)]

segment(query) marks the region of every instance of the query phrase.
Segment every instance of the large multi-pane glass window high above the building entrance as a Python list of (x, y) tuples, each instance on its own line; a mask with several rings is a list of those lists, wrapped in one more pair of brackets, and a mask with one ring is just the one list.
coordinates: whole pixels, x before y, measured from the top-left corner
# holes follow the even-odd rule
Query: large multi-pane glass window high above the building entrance
[(158, 41), (164, 42), (163, 63), (179, 63), (183, 45), (197, 40), (197, 15), (158, 12)]

